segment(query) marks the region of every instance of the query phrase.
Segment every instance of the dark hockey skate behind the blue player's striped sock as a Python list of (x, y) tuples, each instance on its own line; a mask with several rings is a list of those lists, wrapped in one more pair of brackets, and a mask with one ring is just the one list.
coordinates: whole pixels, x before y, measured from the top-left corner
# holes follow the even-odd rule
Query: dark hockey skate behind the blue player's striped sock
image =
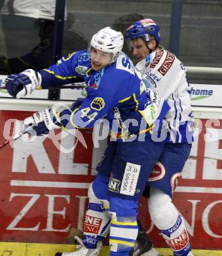
[(149, 240), (145, 232), (139, 232), (134, 249), (130, 251), (130, 256), (159, 256), (158, 251), (153, 248), (153, 242)]

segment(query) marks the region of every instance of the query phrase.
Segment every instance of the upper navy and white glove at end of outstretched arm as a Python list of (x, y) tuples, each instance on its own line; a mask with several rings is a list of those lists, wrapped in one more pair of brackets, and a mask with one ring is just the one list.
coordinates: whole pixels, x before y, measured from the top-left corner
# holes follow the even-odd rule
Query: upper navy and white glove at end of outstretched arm
[(5, 79), (5, 86), (12, 97), (22, 98), (31, 95), (37, 87), (41, 86), (41, 75), (31, 69), (8, 75)]

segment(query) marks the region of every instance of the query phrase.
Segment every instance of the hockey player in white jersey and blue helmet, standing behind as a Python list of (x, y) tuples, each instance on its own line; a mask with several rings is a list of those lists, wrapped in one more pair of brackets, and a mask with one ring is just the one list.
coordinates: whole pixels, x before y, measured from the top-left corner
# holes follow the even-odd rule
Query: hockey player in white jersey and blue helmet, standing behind
[[(174, 255), (193, 255), (183, 217), (172, 203), (172, 193), (189, 157), (193, 141), (193, 114), (185, 67), (177, 57), (160, 46), (158, 25), (145, 18), (126, 30), (136, 68), (148, 88), (163, 96), (170, 105), (166, 115), (166, 142), (162, 155), (149, 177), (149, 213)], [(139, 239), (139, 237), (138, 237)], [(139, 248), (140, 247), (140, 248)], [(144, 253), (138, 245), (134, 255)], [(149, 255), (148, 252), (145, 255)]]

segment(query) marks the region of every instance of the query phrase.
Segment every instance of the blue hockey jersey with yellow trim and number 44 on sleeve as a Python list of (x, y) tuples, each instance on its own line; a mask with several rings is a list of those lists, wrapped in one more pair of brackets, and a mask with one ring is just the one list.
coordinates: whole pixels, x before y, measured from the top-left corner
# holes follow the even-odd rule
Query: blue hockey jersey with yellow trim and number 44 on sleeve
[(78, 51), (41, 70), (41, 87), (64, 85), (82, 77), (88, 85), (83, 104), (69, 116), (67, 129), (92, 128), (98, 119), (109, 121), (113, 137), (126, 139), (151, 132), (169, 106), (157, 93), (146, 89), (139, 72), (124, 53), (98, 72), (92, 70), (90, 53)]

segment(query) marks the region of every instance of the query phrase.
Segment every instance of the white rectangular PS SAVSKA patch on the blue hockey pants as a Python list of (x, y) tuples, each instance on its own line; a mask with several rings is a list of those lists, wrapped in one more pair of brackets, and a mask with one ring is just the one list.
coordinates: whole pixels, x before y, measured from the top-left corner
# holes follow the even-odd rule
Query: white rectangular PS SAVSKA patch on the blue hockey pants
[(138, 177), (141, 165), (134, 163), (126, 163), (126, 168), (122, 178), (122, 184), (120, 188), (120, 194), (127, 196), (134, 196), (136, 192), (136, 185), (138, 183)]

